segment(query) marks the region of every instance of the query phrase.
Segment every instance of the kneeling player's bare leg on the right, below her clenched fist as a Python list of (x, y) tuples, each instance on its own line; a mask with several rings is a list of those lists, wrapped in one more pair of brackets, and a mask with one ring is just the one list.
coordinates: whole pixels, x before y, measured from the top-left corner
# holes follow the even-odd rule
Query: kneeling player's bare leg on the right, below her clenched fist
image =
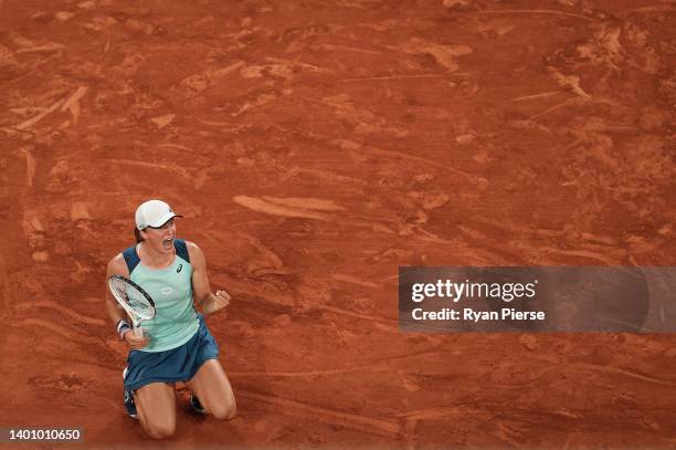
[(186, 386), (216, 419), (230, 420), (235, 416), (234, 394), (218, 359), (205, 360)]

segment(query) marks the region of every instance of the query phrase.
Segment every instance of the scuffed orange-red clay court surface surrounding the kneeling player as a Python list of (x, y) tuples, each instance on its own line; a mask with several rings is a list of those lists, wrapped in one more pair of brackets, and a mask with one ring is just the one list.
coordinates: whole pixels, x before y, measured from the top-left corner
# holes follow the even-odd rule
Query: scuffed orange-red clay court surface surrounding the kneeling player
[(161, 198), (232, 294), (239, 407), (179, 386), (168, 448), (675, 447), (673, 335), (397, 322), (400, 265), (675, 265), (675, 30), (658, 0), (0, 1), (0, 425), (156, 444), (104, 293)]

